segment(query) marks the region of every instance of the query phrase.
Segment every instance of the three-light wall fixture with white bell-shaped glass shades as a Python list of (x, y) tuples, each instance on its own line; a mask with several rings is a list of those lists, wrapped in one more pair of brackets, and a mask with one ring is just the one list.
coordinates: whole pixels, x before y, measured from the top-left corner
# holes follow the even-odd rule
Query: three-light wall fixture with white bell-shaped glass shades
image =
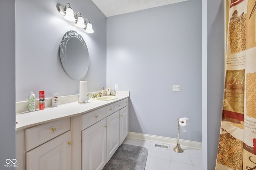
[(86, 19), (84, 21), (81, 12), (75, 13), (71, 8), (70, 3), (66, 3), (65, 7), (60, 4), (57, 4), (57, 10), (58, 12), (60, 12), (60, 14), (64, 16), (66, 20), (73, 21), (74, 23), (76, 23), (77, 27), (84, 28), (87, 33), (94, 33), (90, 20)]

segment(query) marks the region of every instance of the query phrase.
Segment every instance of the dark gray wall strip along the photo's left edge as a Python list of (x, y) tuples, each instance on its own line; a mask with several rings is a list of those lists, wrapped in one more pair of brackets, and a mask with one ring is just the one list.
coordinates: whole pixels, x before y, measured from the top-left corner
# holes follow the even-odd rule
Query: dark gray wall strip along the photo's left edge
[(1, 0), (0, 16), (0, 169), (14, 170), (4, 165), (15, 158), (15, 0)]

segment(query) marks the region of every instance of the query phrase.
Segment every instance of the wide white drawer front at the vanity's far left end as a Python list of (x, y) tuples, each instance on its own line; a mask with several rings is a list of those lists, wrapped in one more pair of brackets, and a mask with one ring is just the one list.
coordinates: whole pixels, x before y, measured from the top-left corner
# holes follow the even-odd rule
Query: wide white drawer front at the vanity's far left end
[(26, 152), (69, 130), (70, 117), (26, 129)]

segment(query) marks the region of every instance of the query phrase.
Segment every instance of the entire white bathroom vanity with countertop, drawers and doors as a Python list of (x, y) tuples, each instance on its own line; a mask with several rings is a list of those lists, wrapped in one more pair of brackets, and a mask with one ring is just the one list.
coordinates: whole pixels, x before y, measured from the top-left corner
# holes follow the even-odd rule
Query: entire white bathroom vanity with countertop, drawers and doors
[(128, 135), (129, 92), (16, 115), (17, 170), (101, 170)]

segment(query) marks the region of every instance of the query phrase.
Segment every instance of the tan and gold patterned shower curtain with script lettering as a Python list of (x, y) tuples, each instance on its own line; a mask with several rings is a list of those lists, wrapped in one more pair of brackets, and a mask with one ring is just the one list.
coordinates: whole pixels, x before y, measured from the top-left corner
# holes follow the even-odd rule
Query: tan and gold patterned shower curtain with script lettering
[(256, 0), (224, 0), (225, 84), (216, 170), (256, 170)]

